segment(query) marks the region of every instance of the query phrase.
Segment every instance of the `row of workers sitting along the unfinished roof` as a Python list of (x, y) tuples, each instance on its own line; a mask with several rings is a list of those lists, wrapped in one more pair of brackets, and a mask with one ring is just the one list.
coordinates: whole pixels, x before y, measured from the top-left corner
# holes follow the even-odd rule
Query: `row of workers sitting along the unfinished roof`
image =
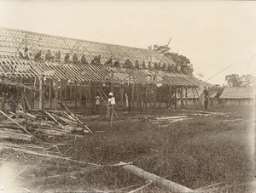
[[(29, 53), (28, 48), (26, 47), (23, 52), (19, 52), (20, 58), (24, 60), (30, 60), (31, 54)], [(90, 60), (90, 63), (86, 60), (85, 54), (82, 54), (80, 59), (78, 54), (73, 54), (72, 60), (70, 59), (70, 54), (66, 54), (64, 57), (64, 64), (73, 63), (75, 65), (82, 64), (82, 65), (102, 65), (101, 63), (101, 55), (95, 56), (92, 60)], [(46, 60), (49, 62), (61, 62), (61, 51), (56, 52), (55, 54), (51, 54), (50, 49), (47, 50), (47, 53), (44, 54), (43, 59), (43, 53), (42, 51), (38, 51), (37, 54), (34, 55), (35, 61), (40, 60)], [(130, 59), (125, 60), (124, 64), (120, 65), (118, 60), (113, 60), (113, 56), (111, 56), (104, 65), (115, 67), (115, 68), (125, 68), (125, 69), (148, 69), (148, 70), (157, 70), (157, 71), (182, 71), (185, 72), (186, 69), (189, 69), (189, 66), (182, 65), (182, 64), (176, 64), (176, 65), (166, 65), (166, 63), (161, 64), (160, 62), (154, 62), (154, 64), (151, 64), (150, 61), (148, 61), (148, 65), (146, 65), (145, 61), (143, 60), (140, 64), (138, 60), (135, 61), (134, 64), (132, 64)]]

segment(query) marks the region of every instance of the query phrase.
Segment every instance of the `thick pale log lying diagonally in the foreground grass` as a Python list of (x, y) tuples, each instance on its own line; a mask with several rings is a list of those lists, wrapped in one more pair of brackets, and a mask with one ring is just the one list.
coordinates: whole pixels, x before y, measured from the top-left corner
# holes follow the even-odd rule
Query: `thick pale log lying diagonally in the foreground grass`
[[(125, 162), (119, 162), (120, 164), (125, 164)], [(143, 179), (152, 180), (154, 184), (158, 184), (160, 186), (166, 187), (170, 192), (192, 192), (192, 189), (189, 189), (181, 184), (177, 184), (167, 179), (163, 179), (160, 176), (155, 175), (154, 173), (148, 173), (143, 169), (133, 166), (133, 165), (125, 165), (123, 166), (125, 170), (131, 172)]]

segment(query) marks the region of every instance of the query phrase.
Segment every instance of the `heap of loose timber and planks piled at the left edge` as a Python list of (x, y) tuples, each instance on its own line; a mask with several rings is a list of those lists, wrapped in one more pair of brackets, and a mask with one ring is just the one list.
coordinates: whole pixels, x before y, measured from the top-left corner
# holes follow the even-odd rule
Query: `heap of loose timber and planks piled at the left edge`
[(8, 118), (0, 122), (0, 138), (3, 139), (32, 141), (36, 133), (51, 136), (92, 133), (78, 116), (61, 103), (55, 111), (26, 110), (10, 112), (10, 115), (0, 112)]

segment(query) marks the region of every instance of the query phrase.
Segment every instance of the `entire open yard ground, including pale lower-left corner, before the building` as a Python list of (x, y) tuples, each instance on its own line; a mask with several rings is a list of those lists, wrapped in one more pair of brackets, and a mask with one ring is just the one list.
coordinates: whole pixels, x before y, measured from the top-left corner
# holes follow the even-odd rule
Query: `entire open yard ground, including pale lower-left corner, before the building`
[[(213, 192), (248, 191), (252, 185), (247, 183), (254, 180), (253, 109), (214, 111), (117, 111), (113, 128), (103, 112), (92, 117), (87, 112), (80, 117), (93, 133), (82, 138), (38, 136), (32, 144), (2, 140), (55, 157), (0, 148), (0, 186), (3, 192), (129, 192), (146, 180), (113, 164), (132, 162), (193, 190), (218, 184)], [(167, 191), (150, 184), (137, 192)]]

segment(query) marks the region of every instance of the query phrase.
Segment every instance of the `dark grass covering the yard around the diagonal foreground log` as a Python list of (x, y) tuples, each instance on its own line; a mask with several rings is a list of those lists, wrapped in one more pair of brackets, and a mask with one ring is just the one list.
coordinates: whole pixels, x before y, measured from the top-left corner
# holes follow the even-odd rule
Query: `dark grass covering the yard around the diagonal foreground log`
[[(238, 184), (253, 179), (253, 153), (249, 144), (252, 128), (244, 120), (250, 113), (246, 108), (219, 108), (227, 116), (195, 116), (194, 112), (165, 111), (166, 116), (177, 116), (188, 113), (191, 119), (182, 122), (139, 122), (127, 115), (123, 121), (115, 121), (113, 128), (105, 120), (90, 121), (88, 124), (94, 131), (83, 139), (67, 139), (71, 146), (60, 146), (64, 156), (84, 162), (99, 162), (111, 164), (133, 162), (137, 167), (183, 184), (191, 189), (197, 189), (209, 184)], [(155, 115), (161, 111), (154, 112)], [(235, 121), (225, 121), (234, 120)], [(160, 127), (160, 125), (168, 125)], [(50, 141), (51, 139), (49, 139)], [(63, 143), (63, 139), (55, 139), (55, 143)], [(67, 150), (72, 147), (72, 149)], [(67, 150), (67, 151), (66, 151)], [(65, 152), (65, 153), (64, 153)], [(7, 157), (9, 152), (4, 152)], [(40, 158), (26, 156), (26, 161), (9, 156), (7, 160), (20, 162), (23, 165), (37, 163)], [(54, 160), (40, 161), (42, 167), (31, 169), (20, 174), (26, 180), (52, 176), (60, 173), (81, 171), (81, 166), (70, 166), (66, 162)], [(70, 168), (65, 168), (70, 167)], [(88, 167), (87, 167), (88, 168)], [(23, 180), (23, 182), (26, 182)], [(22, 180), (21, 180), (22, 181)], [(119, 167), (88, 168), (84, 173), (73, 176), (64, 175), (60, 178), (45, 179), (25, 183), (28, 189), (34, 191), (74, 191), (74, 190), (118, 190), (121, 187), (144, 182), (126, 173)], [(234, 187), (233, 187), (234, 189)], [(231, 190), (231, 189), (230, 189)], [(241, 186), (235, 191), (241, 192)], [(146, 190), (162, 192), (158, 187), (150, 186)], [(232, 190), (233, 192), (233, 190)]]

